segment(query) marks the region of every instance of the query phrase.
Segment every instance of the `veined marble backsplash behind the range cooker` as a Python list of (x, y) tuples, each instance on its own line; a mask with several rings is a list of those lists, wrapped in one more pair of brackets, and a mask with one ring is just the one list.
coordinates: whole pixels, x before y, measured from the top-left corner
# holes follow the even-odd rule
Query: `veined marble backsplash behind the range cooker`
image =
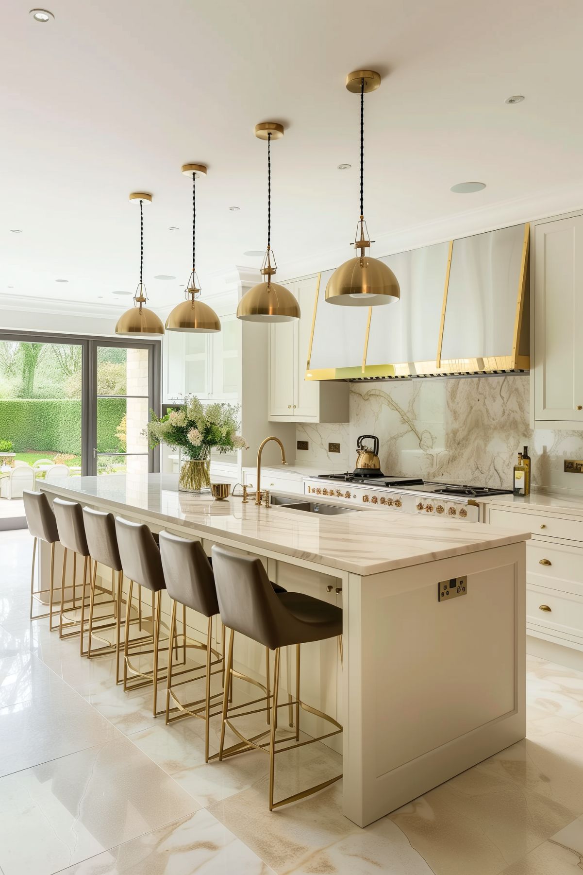
[(533, 431), (529, 406), (528, 375), (350, 383), (350, 423), (298, 425), (309, 450), (296, 461), (350, 470), (357, 437), (374, 434), (387, 474), (510, 489), (527, 444), (533, 485), (583, 492), (583, 476), (563, 471), (564, 458), (583, 458), (583, 430)]

